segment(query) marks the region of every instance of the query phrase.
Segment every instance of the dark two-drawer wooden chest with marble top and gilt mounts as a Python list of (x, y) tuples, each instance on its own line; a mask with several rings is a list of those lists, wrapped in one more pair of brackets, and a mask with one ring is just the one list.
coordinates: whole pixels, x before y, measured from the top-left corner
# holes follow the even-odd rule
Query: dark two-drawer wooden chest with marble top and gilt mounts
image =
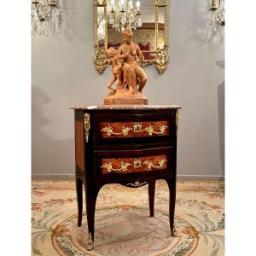
[(154, 216), (155, 180), (170, 190), (170, 227), (175, 236), (177, 122), (179, 106), (75, 106), (75, 162), (78, 225), (83, 187), (88, 249), (93, 248), (96, 197), (107, 183), (137, 188), (148, 184), (149, 214)]

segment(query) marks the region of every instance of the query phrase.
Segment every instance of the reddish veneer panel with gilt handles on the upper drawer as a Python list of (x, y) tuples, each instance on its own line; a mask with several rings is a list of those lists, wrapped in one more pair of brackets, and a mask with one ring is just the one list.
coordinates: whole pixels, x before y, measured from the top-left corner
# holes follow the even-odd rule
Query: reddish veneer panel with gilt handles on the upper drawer
[(101, 122), (101, 135), (103, 138), (115, 137), (154, 137), (169, 134), (168, 121), (152, 122)]

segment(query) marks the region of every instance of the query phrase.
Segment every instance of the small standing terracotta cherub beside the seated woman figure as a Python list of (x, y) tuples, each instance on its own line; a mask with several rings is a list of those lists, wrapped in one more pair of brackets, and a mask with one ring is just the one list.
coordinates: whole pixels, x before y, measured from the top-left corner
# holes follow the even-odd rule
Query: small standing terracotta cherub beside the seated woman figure
[[(120, 89), (122, 83), (122, 67), (123, 64), (117, 57), (117, 50), (113, 47), (110, 47), (107, 50), (108, 55), (108, 64), (111, 66), (112, 78), (108, 83), (109, 94), (108, 96), (112, 96), (115, 94), (116, 90)], [(116, 90), (112, 88), (113, 83), (116, 81)]]

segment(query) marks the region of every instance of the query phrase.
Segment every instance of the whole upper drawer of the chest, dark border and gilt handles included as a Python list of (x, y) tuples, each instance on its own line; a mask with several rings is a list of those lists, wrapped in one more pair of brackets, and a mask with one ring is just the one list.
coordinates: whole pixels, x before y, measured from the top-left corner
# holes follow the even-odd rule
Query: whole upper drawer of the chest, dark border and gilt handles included
[(96, 114), (95, 144), (173, 143), (176, 136), (172, 113)]

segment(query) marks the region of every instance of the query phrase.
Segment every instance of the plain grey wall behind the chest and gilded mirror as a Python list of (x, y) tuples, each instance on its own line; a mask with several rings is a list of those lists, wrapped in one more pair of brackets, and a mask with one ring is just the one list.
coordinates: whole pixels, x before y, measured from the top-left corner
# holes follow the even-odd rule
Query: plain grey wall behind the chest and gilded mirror
[[(71, 2), (71, 3), (70, 3)], [(63, 1), (63, 3), (66, 3)], [(73, 104), (99, 104), (109, 68), (93, 65), (93, 1), (67, 1), (61, 38), (32, 38), (32, 173), (73, 174)], [(207, 1), (172, 0), (169, 67), (147, 67), (150, 104), (180, 104), (178, 175), (224, 176), (224, 44), (203, 28)]]

